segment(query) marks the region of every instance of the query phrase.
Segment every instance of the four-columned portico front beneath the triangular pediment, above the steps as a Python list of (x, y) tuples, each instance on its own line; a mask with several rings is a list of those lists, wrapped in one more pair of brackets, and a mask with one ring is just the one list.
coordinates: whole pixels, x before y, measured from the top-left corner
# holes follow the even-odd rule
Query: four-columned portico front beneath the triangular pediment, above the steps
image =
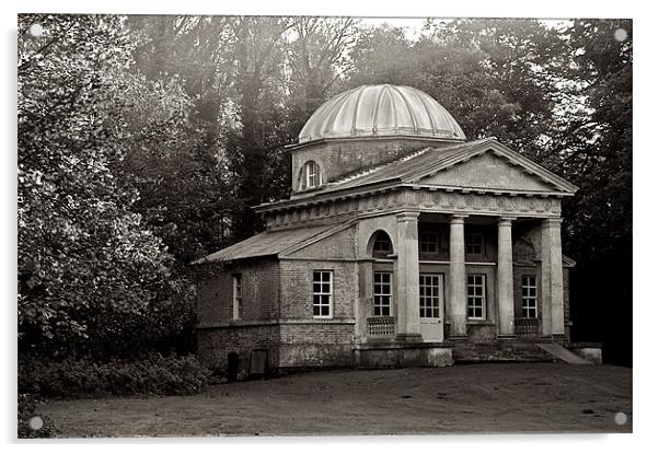
[[(406, 211), (396, 214), (396, 219), (398, 220), (398, 248), (394, 278), (397, 291), (396, 310), (393, 316), (396, 340), (464, 341), (470, 338), (467, 325), (488, 326), (493, 333), (492, 339), (517, 339), (516, 321), (520, 320), (527, 326), (534, 322), (542, 326), (542, 329), (537, 330), (536, 338), (541, 336), (546, 339), (563, 338), (565, 335), (563, 260), (560, 243), (556, 241), (556, 237), (559, 240), (560, 234), (559, 218), (519, 218), (518, 220), (518, 217), (509, 214), (470, 217), (465, 213)], [(540, 236), (534, 241), (540, 245), (537, 257), (532, 257), (531, 264), (527, 264), (524, 271), (529, 281), (535, 281), (536, 288), (535, 294), (524, 295), (525, 300), (533, 300), (535, 303), (525, 306), (527, 316), (519, 314), (516, 316), (516, 311), (521, 312), (519, 310), (521, 300), (518, 301), (520, 306), (516, 310), (515, 297), (516, 268), (519, 267), (513, 256), (516, 223), (520, 230), (519, 234), (516, 234), (518, 242), (528, 240), (523, 233), (534, 232)], [(482, 246), (487, 251), (479, 251), (476, 254), (471, 249), (472, 253), (467, 254), (465, 229), (486, 232)], [(427, 244), (425, 247), (421, 246), (419, 237), (432, 234), (433, 230), (437, 232), (438, 253), (436, 256), (429, 256)], [(442, 235), (447, 230), (448, 237), (446, 234)], [(539, 231), (541, 234), (537, 234)], [(442, 254), (441, 242), (446, 240), (449, 244), (448, 256)], [(470, 260), (466, 259), (467, 256)], [(529, 270), (529, 266), (533, 267), (532, 271)], [(520, 272), (522, 271), (519, 270), (518, 274)], [(428, 279), (431, 276), (437, 278)], [(467, 276), (474, 276), (479, 281), (467, 282)], [(517, 280), (520, 281), (519, 276)], [(419, 284), (414, 284), (417, 281)], [(537, 288), (541, 289), (541, 293), (537, 293)], [(425, 332), (427, 329), (424, 328), (424, 322), (427, 317), (432, 317), (425, 316), (428, 314), (424, 312), (425, 292), (438, 293), (442, 316), (436, 316), (431, 323), (443, 323), (448, 326), (448, 328), (441, 327), (440, 335)], [(472, 306), (471, 315), (467, 309), (470, 300), (483, 301), (482, 305)], [(537, 306), (541, 303), (542, 307)], [(533, 317), (529, 317), (530, 315)], [(523, 334), (529, 336), (529, 332)]]

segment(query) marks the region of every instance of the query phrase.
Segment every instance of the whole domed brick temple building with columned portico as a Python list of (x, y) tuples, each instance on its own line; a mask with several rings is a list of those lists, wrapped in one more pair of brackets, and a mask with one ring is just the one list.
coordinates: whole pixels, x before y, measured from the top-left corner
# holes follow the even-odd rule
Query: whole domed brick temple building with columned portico
[(338, 94), (290, 152), (290, 198), (254, 208), (266, 231), (196, 262), (204, 363), (447, 365), (569, 342), (560, 202), (577, 187), (467, 141), (409, 86)]

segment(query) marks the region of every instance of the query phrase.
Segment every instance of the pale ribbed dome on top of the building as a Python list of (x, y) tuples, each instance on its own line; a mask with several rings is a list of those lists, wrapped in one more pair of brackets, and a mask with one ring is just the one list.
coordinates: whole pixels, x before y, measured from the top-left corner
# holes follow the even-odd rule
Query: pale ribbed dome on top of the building
[(460, 125), (420, 90), (362, 85), (337, 94), (311, 115), (300, 143), (325, 138), (426, 137), (466, 140)]

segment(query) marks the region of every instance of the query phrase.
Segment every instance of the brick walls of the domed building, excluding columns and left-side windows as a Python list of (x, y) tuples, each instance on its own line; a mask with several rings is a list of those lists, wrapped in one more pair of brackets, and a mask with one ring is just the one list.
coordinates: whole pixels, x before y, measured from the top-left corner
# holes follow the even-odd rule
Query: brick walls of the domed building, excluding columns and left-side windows
[[(440, 249), (437, 256), (421, 254), (420, 259), (448, 259), (448, 229), (442, 224), (419, 225), (420, 230), (440, 232)], [(467, 323), (469, 345), (455, 352), (456, 361), (476, 360), (544, 360), (546, 357), (532, 348), (501, 348), (496, 340), (496, 226), (467, 225), (466, 232), (482, 232), (485, 236), (485, 254), (467, 257), (467, 274), (486, 275), (486, 320)], [(200, 360), (211, 368), (226, 370), (227, 357), (236, 352), (240, 372), (248, 372), (250, 357), (254, 349), (268, 350), (269, 369), (350, 367), (355, 364), (355, 344), (368, 341), (363, 325), (371, 315), (371, 298), (360, 287), (360, 269), (372, 272), (384, 267), (394, 271), (395, 266), (373, 266), (359, 262), (366, 246), (357, 239), (358, 228), (348, 228), (315, 244), (304, 247), (289, 258), (252, 259), (238, 264), (208, 266), (200, 272), (201, 284), (198, 301), (198, 351)], [(536, 275), (540, 284), (537, 259), (537, 225), (513, 226), (513, 279), (516, 317), (521, 316), (521, 278)], [(370, 236), (367, 234), (367, 236)], [(366, 237), (366, 236), (365, 236)], [(363, 239), (366, 241), (366, 239)], [(363, 242), (362, 241), (362, 242)], [(483, 265), (478, 263), (483, 262)], [(314, 270), (332, 270), (334, 304), (332, 320), (314, 320), (312, 287)], [(448, 264), (421, 264), (421, 272), (444, 275), (444, 292), (448, 291)], [(232, 275), (242, 276), (243, 312), (241, 320), (233, 321)], [(565, 320), (569, 321), (569, 275), (564, 269)], [(369, 286), (371, 283), (368, 283)], [(361, 291), (361, 293), (360, 293)], [(444, 301), (447, 301), (444, 294)], [(542, 304), (539, 299), (539, 316)], [(369, 306), (365, 306), (369, 304)], [(448, 309), (448, 304), (444, 303)], [(355, 312), (356, 307), (358, 313)], [(363, 312), (363, 313), (359, 313)], [(449, 320), (446, 316), (444, 320)], [(539, 323), (541, 324), (541, 323)], [(447, 326), (448, 328), (448, 326)], [(569, 333), (569, 328), (566, 328)], [(384, 352), (377, 352), (382, 355)], [(397, 352), (386, 352), (394, 356)], [(374, 352), (368, 352), (369, 357)], [(367, 356), (363, 360), (367, 360)], [(382, 356), (386, 363), (398, 363), (395, 358)], [(489, 358), (489, 359), (488, 359)], [(369, 359), (370, 360), (370, 359)], [(420, 360), (420, 359), (419, 359)], [(417, 360), (418, 361), (418, 360)], [(423, 361), (423, 360), (421, 360)], [(443, 360), (448, 362), (449, 360)]]

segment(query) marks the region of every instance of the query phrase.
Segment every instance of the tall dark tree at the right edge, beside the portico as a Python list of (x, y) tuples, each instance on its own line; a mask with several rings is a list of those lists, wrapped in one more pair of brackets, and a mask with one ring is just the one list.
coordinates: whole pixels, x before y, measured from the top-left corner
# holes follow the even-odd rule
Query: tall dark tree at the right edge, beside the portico
[(576, 334), (603, 340), (605, 360), (624, 364), (632, 364), (632, 32), (629, 20), (579, 20), (565, 31), (566, 103), (581, 107), (565, 109), (557, 133), (562, 171), (580, 187), (564, 210), (565, 248), (578, 263)]

